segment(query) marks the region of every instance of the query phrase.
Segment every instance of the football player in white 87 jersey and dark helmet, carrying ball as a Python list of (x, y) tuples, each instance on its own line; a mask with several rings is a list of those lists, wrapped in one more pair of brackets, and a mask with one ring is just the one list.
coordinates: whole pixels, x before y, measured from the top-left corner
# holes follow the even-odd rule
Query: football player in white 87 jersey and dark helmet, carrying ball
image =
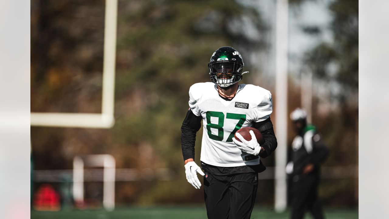
[[(277, 147), (270, 114), (272, 95), (264, 88), (238, 84), (243, 74), (243, 59), (232, 47), (221, 47), (208, 64), (211, 82), (189, 88), (189, 110), (181, 126), (182, 155), (187, 181), (196, 189), (204, 178), (204, 198), (208, 218), (250, 218), (258, 187), (258, 173), (266, 168), (265, 158)], [(203, 121), (201, 168), (194, 162), (196, 132)], [(259, 145), (235, 132), (255, 127), (265, 139)], [(204, 171), (202, 171), (203, 169)]]

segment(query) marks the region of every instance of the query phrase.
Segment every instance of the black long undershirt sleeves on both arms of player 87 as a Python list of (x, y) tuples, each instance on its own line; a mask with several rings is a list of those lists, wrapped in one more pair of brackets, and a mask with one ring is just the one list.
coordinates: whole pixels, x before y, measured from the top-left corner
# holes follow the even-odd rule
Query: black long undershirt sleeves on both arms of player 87
[[(201, 116), (196, 116), (193, 114), (192, 110), (188, 110), (184, 122), (181, 126), (181, 149), (182, 156), (184, 161), (190, 158), (195, 159), (195, 141), (196, 141), (196, 132), (200, 130), (201, 127)], [(271, 120), (270, 117), (262, 122), (254, 122), (254, 127), (260, 129), (263, 125), (268, 124)], [(272, 125), (271, 125), (272, 126)], [(277, 148), (277, 138), (275, 137), (273, 127), (261, 131), (263, 138), (265, 138), (265, 143), (261, 147), (265, 148), (264, 151), (259, 153), (259, 156), (262, 158), (268, 157), (272, 152)]]

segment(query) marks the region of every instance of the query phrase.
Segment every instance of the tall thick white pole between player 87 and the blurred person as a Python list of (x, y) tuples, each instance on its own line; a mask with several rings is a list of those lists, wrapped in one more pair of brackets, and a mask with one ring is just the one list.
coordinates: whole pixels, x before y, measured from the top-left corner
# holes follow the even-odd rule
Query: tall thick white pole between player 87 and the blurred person
[(286, 159), (287, 159), (287, 48), (288, 48), (288, 1), (276, 3), (276, 40), (275, 40), (275, 134), (278, 147), (275, 150), (275, 210), (286, 209)]

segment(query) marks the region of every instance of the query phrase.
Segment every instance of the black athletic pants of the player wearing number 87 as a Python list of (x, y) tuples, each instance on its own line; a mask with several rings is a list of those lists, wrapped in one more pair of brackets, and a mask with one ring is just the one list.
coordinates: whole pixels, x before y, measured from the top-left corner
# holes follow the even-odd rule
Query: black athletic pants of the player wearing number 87
[(249, 219), (258, 188), (258, 173), (214, 175), (205, 171), (204, 198), (209, 219)]

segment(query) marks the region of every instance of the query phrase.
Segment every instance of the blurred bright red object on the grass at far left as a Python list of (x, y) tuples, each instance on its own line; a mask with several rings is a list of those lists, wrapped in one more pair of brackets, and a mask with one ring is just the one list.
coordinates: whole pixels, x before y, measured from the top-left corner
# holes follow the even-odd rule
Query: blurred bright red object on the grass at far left
[(35, 193), (33, 207), (38, 211), (58, 211), (61, 209), (60, 195), (53, 186), (41, 185)]

